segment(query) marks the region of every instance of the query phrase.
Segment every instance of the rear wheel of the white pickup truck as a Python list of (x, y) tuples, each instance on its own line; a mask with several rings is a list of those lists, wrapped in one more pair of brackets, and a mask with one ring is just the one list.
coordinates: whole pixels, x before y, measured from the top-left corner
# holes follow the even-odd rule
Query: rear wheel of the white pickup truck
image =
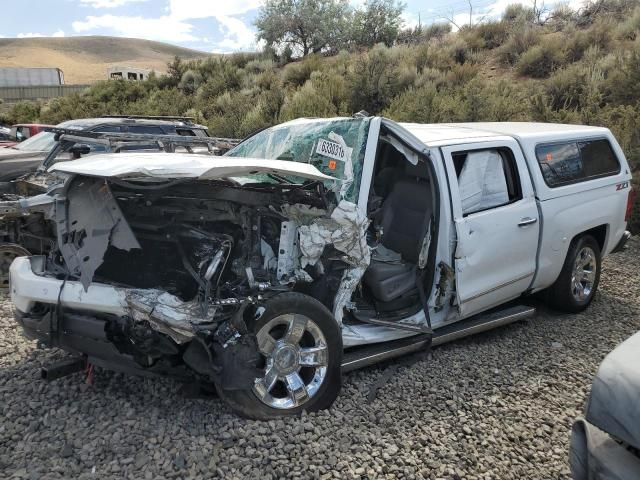
[(549, 305), (578, 313), (592, 302), (600, 283), (600, 246), (591, 235), (574, 239), (555, 283), (549, 288)]

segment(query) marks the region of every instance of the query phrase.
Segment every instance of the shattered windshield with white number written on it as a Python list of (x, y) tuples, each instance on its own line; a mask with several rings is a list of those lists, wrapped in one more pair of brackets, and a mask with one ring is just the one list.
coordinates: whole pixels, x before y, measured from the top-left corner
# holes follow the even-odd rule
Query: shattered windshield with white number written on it
[[(227, 152), (231, 157), (265, 158), (310, 163), (338, 182), (324, 182), (340, 197), (355, 201), (369, 133), (370, 118), (296, 120), (276, 125), (248, 138)], [(304, 183), (294, 176), (256, 174), (244, 182)]]

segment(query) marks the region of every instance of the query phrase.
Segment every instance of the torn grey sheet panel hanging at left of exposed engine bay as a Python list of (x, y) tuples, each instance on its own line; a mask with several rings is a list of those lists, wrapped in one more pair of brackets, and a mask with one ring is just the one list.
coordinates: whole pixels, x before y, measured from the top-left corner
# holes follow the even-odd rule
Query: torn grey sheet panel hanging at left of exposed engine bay
[(129, 251), (140, 244), (103, 179), (75, 179), (56, 201), (58, 246), (70, 274), (85, 291), (109, 245)]

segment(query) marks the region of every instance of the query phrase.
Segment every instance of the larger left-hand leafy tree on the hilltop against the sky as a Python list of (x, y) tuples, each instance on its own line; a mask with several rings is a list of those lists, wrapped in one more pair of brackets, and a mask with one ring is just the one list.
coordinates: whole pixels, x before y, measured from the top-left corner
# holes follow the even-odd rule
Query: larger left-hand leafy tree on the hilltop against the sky
[(339, 50), (350, 17), (348, 0), (267, 0), (255, 25), (267, 46), (305, 56)]

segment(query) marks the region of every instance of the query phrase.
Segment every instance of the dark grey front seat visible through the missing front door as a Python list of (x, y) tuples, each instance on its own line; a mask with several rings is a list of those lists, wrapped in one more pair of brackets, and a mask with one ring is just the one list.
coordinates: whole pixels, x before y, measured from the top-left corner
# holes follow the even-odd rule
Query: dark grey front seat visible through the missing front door
[(400, 261), (388, 261), (373, 252), (364, 283), (376, 300), (390, 302), (415, 288), (415, 265), (431, 217), (429, 182), (421, 178), (398, 180), (378, 215), (382, 228), (381, 243), (401, 255)]

